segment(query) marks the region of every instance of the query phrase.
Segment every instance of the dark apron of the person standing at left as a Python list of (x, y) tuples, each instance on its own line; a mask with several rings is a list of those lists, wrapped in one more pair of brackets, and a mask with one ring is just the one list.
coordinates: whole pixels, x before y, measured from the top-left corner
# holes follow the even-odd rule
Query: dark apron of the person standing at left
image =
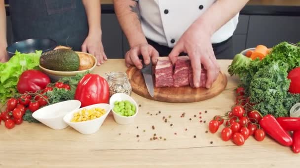
[(9, 0), (13, 41), (50, 38), (81, 51), (88, 23), (81, 0)]

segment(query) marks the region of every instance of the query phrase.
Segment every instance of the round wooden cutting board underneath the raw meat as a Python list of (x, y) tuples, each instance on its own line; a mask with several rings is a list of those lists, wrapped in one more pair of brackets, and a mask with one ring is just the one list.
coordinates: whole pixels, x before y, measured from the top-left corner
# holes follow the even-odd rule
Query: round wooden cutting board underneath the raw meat
[(189, 86), (155, 87), (154, 85), (154, 97), (151, 97), (140, 70), (132, 66), (127, 69), (126, 73), (133, 92), (148, 99), (169, 103), (191, 103), (210, 99), (220, 94), (227, 85), (226, 75), (220, 72), (210, 89)]

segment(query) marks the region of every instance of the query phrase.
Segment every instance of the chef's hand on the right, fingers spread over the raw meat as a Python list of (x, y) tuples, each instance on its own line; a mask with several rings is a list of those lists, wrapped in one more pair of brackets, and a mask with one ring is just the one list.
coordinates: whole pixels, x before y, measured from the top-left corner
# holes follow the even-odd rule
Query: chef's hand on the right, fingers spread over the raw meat
[(211, 33), (205, 28), (199, 29), (192, 24), (174, 46), (169, 57), (174, 64), (181, 52), (188, 54), (193, 70), (195, 87), (200, 86), (201, 63), (207, 70), (206, 88), (210, 88), (217, 79), (220, 67), (211, 44)]

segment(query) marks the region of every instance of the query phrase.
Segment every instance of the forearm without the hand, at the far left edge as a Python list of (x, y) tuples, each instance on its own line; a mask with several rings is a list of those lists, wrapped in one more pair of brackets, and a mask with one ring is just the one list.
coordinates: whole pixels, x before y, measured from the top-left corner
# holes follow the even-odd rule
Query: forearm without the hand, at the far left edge
[(4, 0), (0, 0), (0, 47), (7, 47), (6, 41), (6, 12)]

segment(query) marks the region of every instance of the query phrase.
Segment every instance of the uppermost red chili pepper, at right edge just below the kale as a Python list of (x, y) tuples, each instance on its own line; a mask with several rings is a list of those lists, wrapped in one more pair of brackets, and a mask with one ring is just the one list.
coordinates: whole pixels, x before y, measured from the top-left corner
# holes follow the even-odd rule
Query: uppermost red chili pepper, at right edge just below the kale
[(286, 131), (300, 130), (300, 117), (278, 117), (276, 120)]

